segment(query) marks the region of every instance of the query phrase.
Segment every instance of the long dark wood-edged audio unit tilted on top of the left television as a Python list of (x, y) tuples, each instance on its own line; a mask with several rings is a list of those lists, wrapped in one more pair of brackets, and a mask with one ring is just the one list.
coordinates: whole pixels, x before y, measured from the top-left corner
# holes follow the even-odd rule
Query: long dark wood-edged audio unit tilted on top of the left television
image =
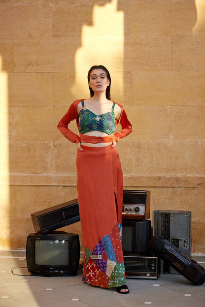
[(35, 232), (46, 234), (80, 221), (78, 199), (32, 213)]

